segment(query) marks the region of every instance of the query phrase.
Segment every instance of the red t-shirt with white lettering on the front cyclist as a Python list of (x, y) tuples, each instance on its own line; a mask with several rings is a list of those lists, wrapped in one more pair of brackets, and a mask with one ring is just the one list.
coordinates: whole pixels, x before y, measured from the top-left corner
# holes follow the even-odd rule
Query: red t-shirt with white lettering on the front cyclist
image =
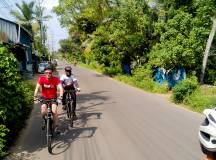
[(47, 79), (45, 76), (41, 76), (38, 79), (38, 83), (42, 87), (42, 96), (46, 99), (57, 98), (57, 85), (60, 84), (58, 77), (52, 77)]

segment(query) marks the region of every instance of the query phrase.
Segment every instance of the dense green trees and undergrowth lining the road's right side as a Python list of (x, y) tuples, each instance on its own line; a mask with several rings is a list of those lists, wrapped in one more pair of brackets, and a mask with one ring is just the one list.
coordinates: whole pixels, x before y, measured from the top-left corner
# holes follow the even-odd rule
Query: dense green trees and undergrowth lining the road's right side
[[(203, 92), (216, 84), (216, 36), (208, 40), (216, 30), (215, 0), (59, 0), (53, 10), (70, 35), (60, 43), (63, 57), (159, 93), (167, 84), (153, 80), (153, 69), (184, 68), (187, 78), (172, 88), (173, 102), (196, 111), (216, 104), (215, 92)], [(200, 86), (206, 51), (204, 83), (212, 87)], [(122, 74), (125, 64), (128, 75)]]

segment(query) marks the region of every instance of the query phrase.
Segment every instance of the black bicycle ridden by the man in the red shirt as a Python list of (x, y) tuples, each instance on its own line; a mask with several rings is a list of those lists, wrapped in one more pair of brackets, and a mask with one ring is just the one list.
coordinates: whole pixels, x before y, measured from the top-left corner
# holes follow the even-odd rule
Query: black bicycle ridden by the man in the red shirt
[(54, 135), (54, 123), (53, 123), (53, 113), (52, 113), (52, 102), (57, 102), (56, 99), (38, 99), (39, 102), (42, 104), (47, 105), (47, 114), (44, 117), (45, 123), (45, 133), (46, 133), (46, 140), (47, 140), (47, 147), (48, 152), (52, 153), (52, 138)]

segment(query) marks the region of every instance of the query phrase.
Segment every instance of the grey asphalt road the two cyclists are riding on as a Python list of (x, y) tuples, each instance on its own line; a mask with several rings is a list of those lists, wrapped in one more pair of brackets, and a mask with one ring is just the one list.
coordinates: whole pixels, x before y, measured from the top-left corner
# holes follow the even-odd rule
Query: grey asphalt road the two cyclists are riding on
[[(63, 64), (59, 66), (62, 73)], [(59, 106), (61, 134), (47, 152), (39, 105), (12, 148), (10, 160), (200, 160), (201, 115), (97, 74), (74, 67), (82, 91), (70, 128)]]

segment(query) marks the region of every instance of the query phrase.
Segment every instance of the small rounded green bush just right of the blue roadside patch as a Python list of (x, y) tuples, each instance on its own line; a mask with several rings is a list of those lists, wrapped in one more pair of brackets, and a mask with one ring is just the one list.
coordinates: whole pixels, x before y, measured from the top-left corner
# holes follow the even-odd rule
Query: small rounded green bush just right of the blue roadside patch
[(173, 88), (172, 100), (175, 103), (182, 103), (184, 99), (191, 95), (198, 88), (198, 82), (196, 77), (187, 78), (179, 82)]

